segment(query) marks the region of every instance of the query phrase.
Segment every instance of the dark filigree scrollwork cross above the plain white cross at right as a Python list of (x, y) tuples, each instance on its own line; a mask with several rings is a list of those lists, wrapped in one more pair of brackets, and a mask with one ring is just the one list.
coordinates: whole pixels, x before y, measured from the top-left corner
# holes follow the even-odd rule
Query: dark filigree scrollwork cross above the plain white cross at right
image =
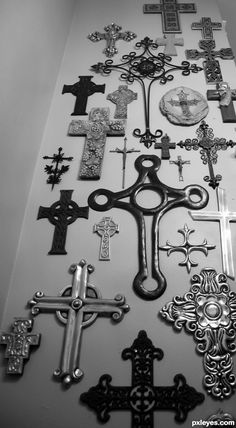
[(225, 138), (214, 138), (213, 129), (203, 120), (196, 131), (198, 139), (187, 138), (184, 142), (180, 141), (177, 146), (186, 150), (200, 149), (201, 159), (204, 165), (208, 165), (209, 176), (206, 175), (204, 180), (209, 186), (215, 189), (222, 180), (220, 174), (215, 175), (213, 165), (217, 163), (218, 150), (226, 150), (228, 147), (234, 147), (236, 143), (232, 140), (226, 141)]

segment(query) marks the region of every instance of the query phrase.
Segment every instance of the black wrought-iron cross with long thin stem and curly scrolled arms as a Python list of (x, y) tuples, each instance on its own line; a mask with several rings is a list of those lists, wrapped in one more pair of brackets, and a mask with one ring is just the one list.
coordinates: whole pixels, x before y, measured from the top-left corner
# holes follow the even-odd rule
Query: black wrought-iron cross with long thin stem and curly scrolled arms
[[(136, 49), (143, 49), (142, 54), (137, 55), (136, 52), (130, 52), (128, 55), (122, 56), (120, 64), (113, 64), (112, 60), (107, 60), (105, 63), (99, 62), (91, 67), (96, 73), (109, 75), (112, 70), (117, 70), (121, 73), (120, 79), (128, 83), (133, 83), (137, 80), (142, 88), (145, 114), (145, 131), (142, 133), (139, 128), (134, 129), (133, 135), (140, 138), (140, 143), (143, 143), (147, 148), (155, 143), (156, 139), (163, 135), (161, 129), (157, 129), (154, 133), (150, 131), (150, 92), (151, 87), (157, 80), (161, 84), (174, 79), (173, 71), (180, 70), (183, 76), (188, 76), (191, 72), (198, 73), (202, 70), (196, 64), (190, 64), (188, 61), (183, 61), (181, 65), (171, 64), (172, 58), (165, 56), (163, 53), (158, 55), (153, 54), (153, 50), (158, 48), (156, 43), (149, 37), (135, 44)], [(145, 86), (145, 79), (150, 82)]]

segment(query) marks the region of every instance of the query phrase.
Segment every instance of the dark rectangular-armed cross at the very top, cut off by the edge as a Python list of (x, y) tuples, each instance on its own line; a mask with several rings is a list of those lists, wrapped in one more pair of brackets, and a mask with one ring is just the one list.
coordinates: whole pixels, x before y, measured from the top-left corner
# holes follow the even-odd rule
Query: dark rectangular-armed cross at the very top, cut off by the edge
[(194, 3), (177, 3), (177, 0), (160, 0), (160, 4), (145, 4), (144, 13), (161, 13), (163, 33), (182, 33), (179, 12), (196, 13)]

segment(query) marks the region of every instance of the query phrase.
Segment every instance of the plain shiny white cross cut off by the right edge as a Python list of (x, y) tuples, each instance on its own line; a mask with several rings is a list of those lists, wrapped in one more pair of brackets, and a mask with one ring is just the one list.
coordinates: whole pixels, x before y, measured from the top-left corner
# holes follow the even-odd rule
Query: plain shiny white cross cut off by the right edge
[(231, 242), (230, 222), (236, 221), (236, 212), (229, 211), (224, 189), (216, 190), (218, 211), (189, 211), (193, 220), (218, 221), (220, 226), (221, 257), (223, 272), (234, 279), (233, 250)]

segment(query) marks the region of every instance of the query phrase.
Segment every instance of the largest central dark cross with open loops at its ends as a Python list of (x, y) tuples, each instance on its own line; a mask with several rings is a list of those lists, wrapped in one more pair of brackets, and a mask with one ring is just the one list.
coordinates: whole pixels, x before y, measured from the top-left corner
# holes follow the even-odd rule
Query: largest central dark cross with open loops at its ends
[[(146, 161), (149, 161), (151, 165), (146, 166)], [(159, 222), (161, 218), (167, 211), (175, 207), (191, 207), (192, 209), (205, 207), (208, 202), (208, 193), (198, 185), (175, 189), (163, 184), (157, 176), (161, 160), (155, 155), (141, 155), (135, 160), (134, 165), (138, 171), (138, 178), (132, 186), (116, 193), (107, 189), (95, 190), (90, 194), (88, 204), (95, 211), (121, 208), (134, 216), (138, 226), (139, 270), (134, 278), (133, 288), (143, 299), (153, 300), (161, 296), (166, 289), (166, 279), (159, 267)], [(145, 183), (146, 179), (149, 179), (148, 183)], [(146, 208), (138, 203), (138, 194), (146, 189), (152, 190), (160, 196), (159, 205)], [(198, 201), (192, 199), (192, 196), (196, 194), (199, 196)], [(97, 200), (99, 196), (104, 196), (106, 202), (99, 203)], [(129, 201), (123, 201), (125, 198), (129, 198)], [(143, 285), (143, 281), (148, 277), (145, 215), (152, 216), (152, 277), (157, 282), (157, 287), (154, 290), (148, 290)]]

